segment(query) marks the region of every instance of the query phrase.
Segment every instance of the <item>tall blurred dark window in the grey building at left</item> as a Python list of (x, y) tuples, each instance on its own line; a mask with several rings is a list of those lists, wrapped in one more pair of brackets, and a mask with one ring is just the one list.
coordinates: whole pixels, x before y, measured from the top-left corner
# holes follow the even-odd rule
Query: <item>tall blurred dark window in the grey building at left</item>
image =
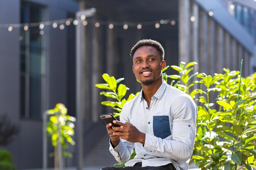
[[(42, 22), (43, 7), (21, 1), (21, 23)], [(41, 119), (45, 98), (44, 30), (38, 26), (20, 29), (20, 114), (21, 117)]]

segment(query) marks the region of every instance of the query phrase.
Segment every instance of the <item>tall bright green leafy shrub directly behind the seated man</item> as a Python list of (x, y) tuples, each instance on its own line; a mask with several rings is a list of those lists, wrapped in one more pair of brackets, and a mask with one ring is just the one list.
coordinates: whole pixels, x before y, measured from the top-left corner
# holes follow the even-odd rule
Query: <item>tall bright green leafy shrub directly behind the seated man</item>
[[(195, 163), (202, 170), (255, 169), (255, 82), (228, 68), (223, 68), (223, 74), (213, 76), (192, 73), (195, 64), (181, 62), (179, 66), (171, 66), (177, 75), (163, 73), (166, 82), (171, 79), (168, 82), (171, 86), (188, 93), (198, 103), (197, 133), (190, 164)], [(115, 110), (119, 106), (110, 101), (102, 104)]]

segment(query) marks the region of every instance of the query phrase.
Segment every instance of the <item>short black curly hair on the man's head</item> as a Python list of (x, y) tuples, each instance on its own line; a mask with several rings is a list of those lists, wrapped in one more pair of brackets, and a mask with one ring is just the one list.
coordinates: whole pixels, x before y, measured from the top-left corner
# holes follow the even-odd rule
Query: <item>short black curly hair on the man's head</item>
[(135, 53), (135, 51), (137, 49), (139, 49), (139, 47), (141, 46), (153, 46), (157, 49), (157, 51), (160, 53), (161, 55), (161, 59), (164, 60), (164, 48), (162, 47), (162, 45), (155, 41), (155, 40), (150, 40), (150, 39), (145, 39), (145, 40), (139, 40), (131, 49), (130, 51), (130, 56), (133, 58), (133, 55)]

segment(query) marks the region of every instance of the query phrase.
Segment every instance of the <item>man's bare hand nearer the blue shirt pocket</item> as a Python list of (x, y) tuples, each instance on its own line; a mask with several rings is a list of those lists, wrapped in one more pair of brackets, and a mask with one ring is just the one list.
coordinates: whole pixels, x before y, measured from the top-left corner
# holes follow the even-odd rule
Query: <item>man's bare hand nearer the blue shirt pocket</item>
[(115, 139), (120, 137), (121, 139), (126, 139), (130, 142), (140, 142), (144, 145), (146, 137), (145, 133), (140, 132), (135, 126), (128, 122), (122, 123), (121, 121), (114, 120), (113, 123), (120, 125), (120, 127), (112, 126), (112, 129), (114, 130), (112, 133)]

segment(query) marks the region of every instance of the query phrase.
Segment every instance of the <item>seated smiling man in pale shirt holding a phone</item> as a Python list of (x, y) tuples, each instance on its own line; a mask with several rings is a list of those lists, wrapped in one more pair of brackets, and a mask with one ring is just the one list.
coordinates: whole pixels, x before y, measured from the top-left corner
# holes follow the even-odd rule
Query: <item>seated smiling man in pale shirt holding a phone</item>
[[(187, 170), (193, 152), (197, 106), (162, 78), (164, 49), (154, 40), (132, 47), (132, 71), (141, 92), (121, 112), (120, 127), (107, 124), (110, 152), (124, 170)], [(135, 148), (136, 157), (130, 159)], [(129, 160), (129, 161), (128, 161)], [(102, 170), (121, 170), (108, 167)]]

